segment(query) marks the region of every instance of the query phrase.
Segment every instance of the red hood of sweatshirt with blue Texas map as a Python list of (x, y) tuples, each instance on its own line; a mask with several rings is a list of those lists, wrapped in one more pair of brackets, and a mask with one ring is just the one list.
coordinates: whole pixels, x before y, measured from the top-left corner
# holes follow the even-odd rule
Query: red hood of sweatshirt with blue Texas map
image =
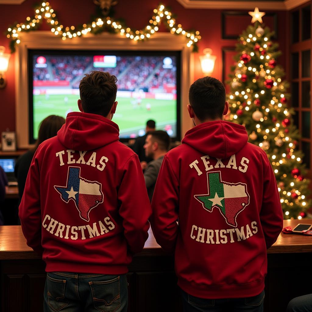
[(118, 141), (119, 128), (103, 116), (72, 112), (57, 132), (57, 138), (68, 149), (86, 151)]

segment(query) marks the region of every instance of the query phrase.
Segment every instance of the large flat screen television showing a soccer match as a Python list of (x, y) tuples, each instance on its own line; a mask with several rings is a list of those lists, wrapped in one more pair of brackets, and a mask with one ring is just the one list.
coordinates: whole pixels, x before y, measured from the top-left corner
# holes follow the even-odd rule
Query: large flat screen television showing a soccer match
[(149, 119), (180, 139), (179, 51), (28, 50), (28, 62), (30, 144), (45, 117), (78, 111), (80, 80), (93, 70), (117, 76), (121, 141), (144, 135)]

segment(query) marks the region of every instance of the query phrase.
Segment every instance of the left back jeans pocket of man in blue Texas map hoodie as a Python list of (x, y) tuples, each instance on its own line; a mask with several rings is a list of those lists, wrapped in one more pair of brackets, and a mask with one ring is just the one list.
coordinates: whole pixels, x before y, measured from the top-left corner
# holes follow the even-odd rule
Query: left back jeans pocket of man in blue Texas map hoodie
[(48, 304), (53, 311), (60, 311), (68, 305), (65, 299), (66, 280), (57, 280), (47, 274)]

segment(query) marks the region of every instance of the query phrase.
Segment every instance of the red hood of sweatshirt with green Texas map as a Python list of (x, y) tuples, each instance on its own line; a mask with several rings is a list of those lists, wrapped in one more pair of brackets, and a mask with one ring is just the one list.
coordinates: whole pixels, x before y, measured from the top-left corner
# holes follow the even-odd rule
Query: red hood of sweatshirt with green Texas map
[(188, 130), (182, 143), (214, 158), (228, 158), (248, 141), (244, 126), (228, 121), (209, 121)]

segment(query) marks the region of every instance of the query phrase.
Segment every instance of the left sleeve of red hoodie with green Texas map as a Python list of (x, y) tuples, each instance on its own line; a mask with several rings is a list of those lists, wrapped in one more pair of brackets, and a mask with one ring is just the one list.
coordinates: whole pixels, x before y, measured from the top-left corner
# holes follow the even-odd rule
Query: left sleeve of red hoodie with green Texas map
[(163, 158), (152, 200), (151, 227), (157, 243), (173, 252), (178, 234), (179, 183), (168, 157)]

